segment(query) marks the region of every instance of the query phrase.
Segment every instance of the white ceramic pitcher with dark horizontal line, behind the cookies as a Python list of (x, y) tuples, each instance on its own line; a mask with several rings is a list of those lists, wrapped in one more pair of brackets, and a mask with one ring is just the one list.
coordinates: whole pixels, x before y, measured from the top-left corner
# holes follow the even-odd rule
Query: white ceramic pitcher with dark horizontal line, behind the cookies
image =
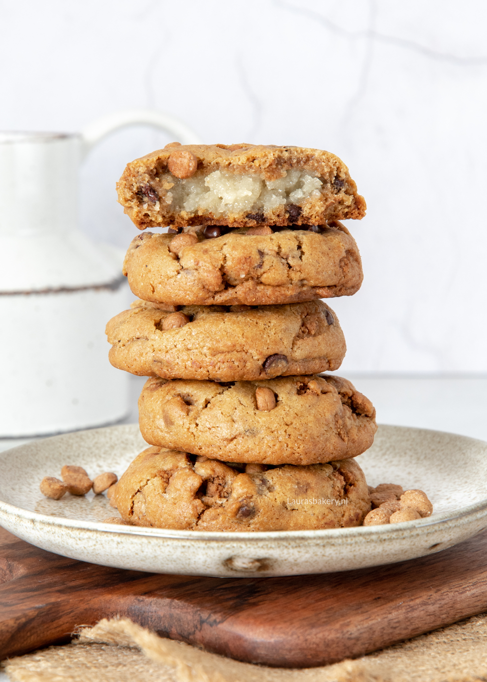
[(121, 253), (77, 229), (78, 166), (104, 136), (147, 124), (183, 144), (173, 117), (130, 110), (80, 134), (0, 133), (0, 439), (101, 426), (128, 411), (106, 322), (126, 307)]

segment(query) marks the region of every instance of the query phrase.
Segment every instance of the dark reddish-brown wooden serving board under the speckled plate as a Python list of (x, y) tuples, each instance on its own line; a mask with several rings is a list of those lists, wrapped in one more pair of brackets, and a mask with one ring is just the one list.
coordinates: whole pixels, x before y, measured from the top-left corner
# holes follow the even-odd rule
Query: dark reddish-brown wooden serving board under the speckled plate
[(487, 531), (429, 557), (290, 578), (195, 578), (66, 559), (0, 529), (0, 659), (117, 614), (229, 657), (308, 667), (487, 610)]

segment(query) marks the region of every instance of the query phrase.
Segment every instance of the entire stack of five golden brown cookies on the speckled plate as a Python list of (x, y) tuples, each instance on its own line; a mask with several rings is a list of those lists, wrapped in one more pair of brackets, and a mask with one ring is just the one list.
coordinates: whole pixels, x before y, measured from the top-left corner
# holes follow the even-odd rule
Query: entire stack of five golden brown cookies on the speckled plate
[(339, 222), (366, 205), (316, 149), (171, 143), (128, 164), (119, 201), (145, 232), (124, 273), (138, 300), (110, 320), (110, 362), (148, 376), (153, 447), (113, 499), (130, 524), (205, 531), (360, 525), (370, 498), (353, 457), (377, 429), (340, 367), (320, 299), (350, 296), (359, 251)]

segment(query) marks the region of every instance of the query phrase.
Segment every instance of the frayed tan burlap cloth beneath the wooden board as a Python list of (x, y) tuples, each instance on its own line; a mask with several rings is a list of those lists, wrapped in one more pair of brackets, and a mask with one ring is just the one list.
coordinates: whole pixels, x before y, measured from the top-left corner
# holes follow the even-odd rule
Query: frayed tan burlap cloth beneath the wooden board
[(2, 665), (18, 682), (487, 682), (487, 614), (321, 668), (240, 663), (127, 619), (102, 620), (71, 644)]

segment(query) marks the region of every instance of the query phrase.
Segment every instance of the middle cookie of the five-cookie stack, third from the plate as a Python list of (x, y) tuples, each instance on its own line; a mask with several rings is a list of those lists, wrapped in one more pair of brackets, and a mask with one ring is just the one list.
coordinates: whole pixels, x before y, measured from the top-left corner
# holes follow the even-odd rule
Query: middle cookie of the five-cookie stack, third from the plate
[(136, 301), (106, 325), (110, 362), (163, 379), (249, 381), (337, 370), (346, 346), (323, 301), (289, 306), (186, 306)]

